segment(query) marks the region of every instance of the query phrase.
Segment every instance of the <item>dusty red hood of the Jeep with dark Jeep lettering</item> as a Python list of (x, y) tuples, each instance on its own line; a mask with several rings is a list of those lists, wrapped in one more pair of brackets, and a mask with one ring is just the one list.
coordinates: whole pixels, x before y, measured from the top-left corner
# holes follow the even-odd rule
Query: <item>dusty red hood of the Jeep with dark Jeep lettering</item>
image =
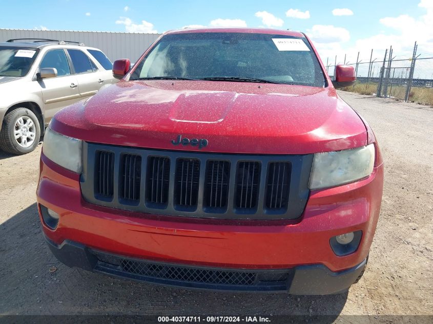
[(89, 142), (201, 152), (310, 154), (367, 144), (333, 88), (248, 82), (122, 81), (57, 113), (51, 127)]

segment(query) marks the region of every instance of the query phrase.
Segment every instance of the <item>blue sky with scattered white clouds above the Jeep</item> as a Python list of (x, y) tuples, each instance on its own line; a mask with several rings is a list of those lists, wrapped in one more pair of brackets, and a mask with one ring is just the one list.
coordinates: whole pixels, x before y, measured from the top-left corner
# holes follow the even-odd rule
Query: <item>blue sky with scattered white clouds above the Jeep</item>
[(379, 56), (390, 45), (407, 56), (415, 40), (419, 52), (433, 52), (433, 0), (23, 0), (2, 1), (2, 12), (9, 14), (2, 14), (0, 28), (11, 29), (160, 33), (189, 25), (235, 25), (300, 30), (312, 37), (325, 63), (336, 54), (356, 60), (358, 51), (366, 58), (372, 48)]

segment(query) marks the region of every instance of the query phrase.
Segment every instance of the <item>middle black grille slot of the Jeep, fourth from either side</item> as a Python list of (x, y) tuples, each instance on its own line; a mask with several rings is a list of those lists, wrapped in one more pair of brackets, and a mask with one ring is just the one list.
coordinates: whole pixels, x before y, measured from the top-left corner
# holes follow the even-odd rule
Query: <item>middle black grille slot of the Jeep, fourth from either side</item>
[(200, 160), (176, 160), (174, 201), (177, 206), (187, 208), (197, 206), (199, 178)]

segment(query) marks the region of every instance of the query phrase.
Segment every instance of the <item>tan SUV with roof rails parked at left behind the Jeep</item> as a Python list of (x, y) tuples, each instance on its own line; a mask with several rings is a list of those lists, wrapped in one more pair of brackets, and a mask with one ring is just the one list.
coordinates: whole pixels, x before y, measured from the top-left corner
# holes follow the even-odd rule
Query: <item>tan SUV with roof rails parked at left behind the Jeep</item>
[(112, 67), (103, 52), (81, 43), (0, 42), (0, 149), (32, 152), (58, 110), (117, 81)]

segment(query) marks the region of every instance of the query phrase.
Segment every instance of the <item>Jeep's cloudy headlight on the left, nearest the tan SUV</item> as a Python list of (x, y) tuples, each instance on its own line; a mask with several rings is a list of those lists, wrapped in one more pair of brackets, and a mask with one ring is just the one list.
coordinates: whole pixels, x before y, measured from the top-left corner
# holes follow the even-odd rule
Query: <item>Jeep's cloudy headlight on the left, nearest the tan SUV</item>
[(83, 167), (81, 163), (83, 142), (81, 140), (61, 135), (48, 127), (45, 131), (42, 150), (44, 155), (54, 163), (65, 169), (81, 172)]

